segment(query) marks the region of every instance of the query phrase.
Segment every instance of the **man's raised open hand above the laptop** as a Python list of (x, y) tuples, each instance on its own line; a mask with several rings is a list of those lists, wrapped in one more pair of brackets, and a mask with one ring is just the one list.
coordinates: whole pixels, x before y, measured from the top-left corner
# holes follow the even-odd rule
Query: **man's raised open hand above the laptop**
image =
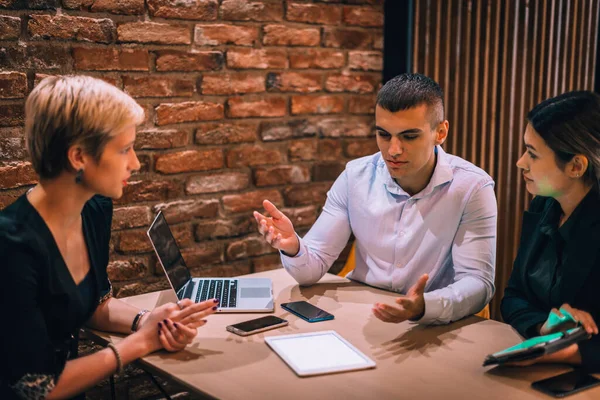
[(300, 241), (294, 225), (288, 217), (275, 207), (269, 200), (263, 201), (263, 207), (271, 215), (265, 217), (258, 211), (254, 211), (254, 218), (258, 224), (258, 232), (274, 248), (283, 251), (293, 257), (300, 251)]

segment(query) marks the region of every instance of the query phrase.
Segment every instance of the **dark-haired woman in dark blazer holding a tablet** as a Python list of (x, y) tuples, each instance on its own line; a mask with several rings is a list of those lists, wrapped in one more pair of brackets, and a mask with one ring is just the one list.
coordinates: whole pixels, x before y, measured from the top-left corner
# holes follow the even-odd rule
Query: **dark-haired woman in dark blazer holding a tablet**
[(523, 216), (502, 317), (530, 338), (557, 330), (552, 322), (566, 310), (591, 339), (517, 365), (557, 362), (599, 371), (600, 96), (565, 93), (535, 106), (527, 119), (517, 166), (535, 197)]

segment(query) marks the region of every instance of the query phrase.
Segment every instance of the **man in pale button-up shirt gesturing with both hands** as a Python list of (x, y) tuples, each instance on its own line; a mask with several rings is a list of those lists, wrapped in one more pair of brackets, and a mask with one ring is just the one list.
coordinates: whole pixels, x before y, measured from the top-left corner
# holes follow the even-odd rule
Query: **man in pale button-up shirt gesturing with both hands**
[(254, 212), (259, 232), (301, 285), (321, 279), (354, 233), (347, 277), (400, 294), (373, 305), (382, 321), (439, 324), (480, 311), (494, 294), (492, 178), (440, 147), (449, 126), (443, 92), (426, 76), (387, 82), (375, 123), (380, 152), (346, 165), (304, 238), (268, 200), (271, 217)]

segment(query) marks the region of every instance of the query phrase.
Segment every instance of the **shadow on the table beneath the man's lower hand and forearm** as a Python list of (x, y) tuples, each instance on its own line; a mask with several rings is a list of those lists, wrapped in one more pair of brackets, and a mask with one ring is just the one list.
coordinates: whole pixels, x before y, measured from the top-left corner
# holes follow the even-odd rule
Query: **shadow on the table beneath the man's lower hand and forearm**
[(460, 332), (463, 327), (479, 321), (481, 319), (469, 317), (448, 325), (415, 325), (392, 340), (379, 342), (377, 332), (381, 331), (383, 322), (371, 316), (363, 332), (365, 339), (372, 344), (372, 354), (376, 360), (395, 358), (395, 363), (401, 363), (409, 357), (430, 357), (431, 353), (440, 348), (451, 350), (450, 345), (455, 341), (473, 343), (460, 337)]

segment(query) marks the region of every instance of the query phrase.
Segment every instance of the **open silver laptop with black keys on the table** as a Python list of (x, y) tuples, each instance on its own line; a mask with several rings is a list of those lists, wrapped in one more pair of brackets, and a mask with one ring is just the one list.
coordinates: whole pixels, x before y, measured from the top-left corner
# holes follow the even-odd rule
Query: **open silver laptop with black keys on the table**
[(273, 284), (268, 278), (192, 278), (173, 233), (160, 211), (148, 237), (179, 300), (199, 303), (219, 299), (218, 312), (273, 312)]

